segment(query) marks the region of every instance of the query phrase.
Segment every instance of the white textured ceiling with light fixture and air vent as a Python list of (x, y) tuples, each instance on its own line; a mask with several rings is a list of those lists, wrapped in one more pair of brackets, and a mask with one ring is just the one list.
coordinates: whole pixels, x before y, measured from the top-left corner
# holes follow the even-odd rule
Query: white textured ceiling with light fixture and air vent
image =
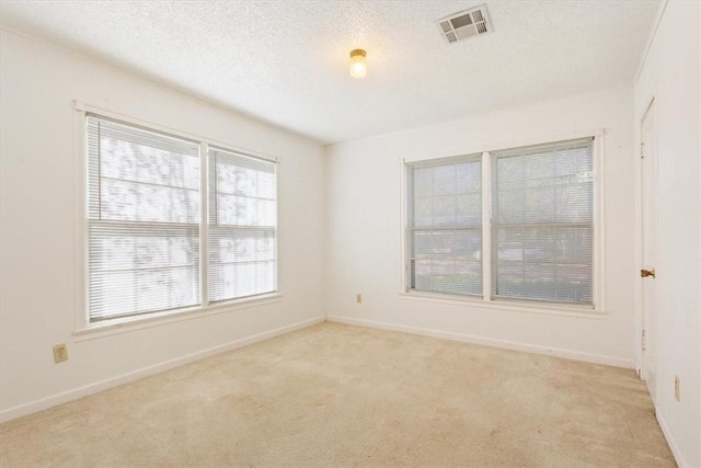
[(486, 1), (494, 33), (445, 43), (435, 21), (481, 3), (2, 0), (0, 21), (338, 142), (631, 85), (659, 1)]

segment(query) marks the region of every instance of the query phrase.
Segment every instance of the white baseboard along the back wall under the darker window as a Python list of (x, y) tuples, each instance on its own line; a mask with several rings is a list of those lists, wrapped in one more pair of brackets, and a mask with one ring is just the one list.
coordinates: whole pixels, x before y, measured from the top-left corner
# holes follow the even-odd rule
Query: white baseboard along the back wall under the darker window
[(440, 338), (445, 340), (462, 341), (466, 343), (481, 344), (484, 346), (501, 347), (504, 350), (525, 351), (527, 353), (544, 354), (548, 356), (564, 357), (567, 359), (584, 361), (594, 364), (604, 364), (607, 366), (625, 367), (633, 369), (635, 363), (633, 359), (622, 359), (620, 357), (605, 356), (600, 354), (582, 353), (578, 351), (560, 350), (555, 347), (539, 346), (536, 344), (518, 343), (506, 340), (496, 340), (492, 338), (475, 336), (463, 333), (453, 333), (441, 330), (424, 329), (418, 327), (407, 327), (387, 322), (377, 322), (374, 320), (356, 319), (349, 317), (329, 316), (326, 320), (330, 322), (347, 323), (360, 327), (370, 327), (381, 330), (401, 331), (405, 333), (422, 334), (425, 336)]

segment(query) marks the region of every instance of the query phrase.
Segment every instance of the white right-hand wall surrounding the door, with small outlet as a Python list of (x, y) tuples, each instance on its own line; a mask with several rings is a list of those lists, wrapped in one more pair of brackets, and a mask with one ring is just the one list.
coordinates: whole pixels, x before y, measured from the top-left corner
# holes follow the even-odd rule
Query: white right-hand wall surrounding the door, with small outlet
[[(670, 1), (635, 83), (635, 128), (657, 110), (657, 419), (680, 466), (701, 467), (699, 2)], [(681, 400), (674, 398), (680, 377)]]

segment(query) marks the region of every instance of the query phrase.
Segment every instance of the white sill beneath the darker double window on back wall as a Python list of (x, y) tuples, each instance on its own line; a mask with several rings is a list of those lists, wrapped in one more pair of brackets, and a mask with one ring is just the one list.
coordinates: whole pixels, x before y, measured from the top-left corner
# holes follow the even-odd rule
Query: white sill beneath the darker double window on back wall
[(474, 297), (449, 296), (432, 293), (400, 293), (400, 297), (406, 300), (421, 300), (434, 304), (447, 304), (456, 306), (471, 306), (485, 310), (498, 310), (504, 312), (526, 312), (551, 316), (574, 317), (581, 319), (602, 320), (608, 317), (605, 310), (596, 310), (586, 306), (567, 306), (550, 304), (526, 304), (512, 301), (484, 300)]

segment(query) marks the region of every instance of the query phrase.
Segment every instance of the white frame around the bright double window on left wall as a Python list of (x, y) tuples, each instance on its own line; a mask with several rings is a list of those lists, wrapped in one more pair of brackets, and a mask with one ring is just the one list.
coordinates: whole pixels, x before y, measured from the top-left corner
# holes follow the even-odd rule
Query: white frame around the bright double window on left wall
[[(76, 190), (74, 190), (74, 258), (76, 269), (73, 276), (76, 278), (76, 318), (73, 334), (77, 341), (90, 340), (92, 338), (110, 335), (113, 333), (137, 330), (146, 327), (153, 327), (162, 323), (170, 323), (180, 320), (205, 317), (208, 315), (222, 313), (232, 310), (239, 310), (250, 307), (257, 307), (263, 304), (279, 301), (283, 294), (280, 289), (280, 261), (279, 261), (279, 199), (278, 199), (278, 170), (279, 160), (261, 151), (250, 150), (231, 145), (229, 142), (218, 141), (208, 137), (183, 132), (180, 129), (154, 124), (152, 122), (135, 118), (125, 114), (112, 112), (102, 107), (88, 105), (80, 101), (73, 101), (73, 147), (76, 155)], [(200, 290), (199, 304), (192, 307), (182, 307), (171, 310), (158, 310), (147, 313), (139, 313), (123, 318), (106, 319), (100, 321), (91, 321), (88, 310), (90, 282), (89, 282), (89, 209), (88, 209), (88, 191), (89, 191), (89, 171), (88, 171), (88, 127), (87, 117), (93, 115), (99, 118), (116, 121), (126, 125), (141, 127), (147, 130), (171, 135), (177, 138), (196, 141), (199, 146), (199, 195), (200, 195), (200, 218), (199, 218), (199, 281)], [(232, 298), (221, 301), (211, 303), (208, 298), (208, 148), (218, 148), (243, 157), (262, 160), (273, 164), (275, 173), (275, 289), (269, 293), (260, 295)]]

